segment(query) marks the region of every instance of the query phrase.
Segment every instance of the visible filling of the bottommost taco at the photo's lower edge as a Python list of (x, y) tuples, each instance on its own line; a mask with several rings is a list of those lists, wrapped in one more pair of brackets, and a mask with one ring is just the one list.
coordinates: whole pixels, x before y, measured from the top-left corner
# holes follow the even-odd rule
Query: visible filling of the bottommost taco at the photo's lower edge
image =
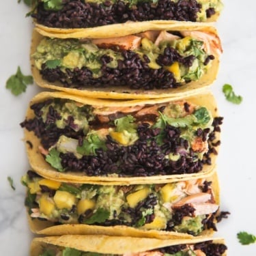
[[(165, 246), (163, 248), (156, 248), (152, 251), (145, 251), (141, 253), (124, 253), (122, 256), (221, 256), (225, 255), (226, 251), (227, 246), (225, 244), (209, 240), (195, 244), (177, 244), (172, 246)], [(57, 246), (53, 244), (42, 244), (41, 253), (42, 254), (38, 256), (91, 256), (92, 254), (97, 256), (117, 256), (117, 254), (102, 254), (79, 251), (76, 248)]]

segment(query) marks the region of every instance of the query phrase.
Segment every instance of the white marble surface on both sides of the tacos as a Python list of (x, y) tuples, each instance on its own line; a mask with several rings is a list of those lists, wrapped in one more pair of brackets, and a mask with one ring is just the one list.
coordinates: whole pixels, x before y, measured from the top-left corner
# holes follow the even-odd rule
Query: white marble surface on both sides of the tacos
[[(225, 117), (218, 173), (221, 182), (221, 208), (231, 215), (218, 225), (216, 236), (225, 238), (228, 255), (256, 255), (256, 244), (242, 246), (236, 233), (248, 231), (256, 235), (255, 222), (255, 109), (256, 109), (256, 2), (225, 1), (218, 20), (224, 53), (218, 79), (212, 86), (221, 115)], [(29, 74), (31, 20), (25, 18), (27, 7), (17, 0), (0, 1), (0, 255), (29, 255), (32, 235), (27, 227), (23, 201), (25, 188), (20, 177), (29, 169), (23, 131), (19, 123), (25, 117), (30, 98), (39, 89), (29, 85), (21, 96), (12, 96), (5, 81), (18, 65)], [(244, 101), (239, 106), (225, 100), (221, 88), (233, 85)], [(7, 177), (14, 180), (12, 190)]]

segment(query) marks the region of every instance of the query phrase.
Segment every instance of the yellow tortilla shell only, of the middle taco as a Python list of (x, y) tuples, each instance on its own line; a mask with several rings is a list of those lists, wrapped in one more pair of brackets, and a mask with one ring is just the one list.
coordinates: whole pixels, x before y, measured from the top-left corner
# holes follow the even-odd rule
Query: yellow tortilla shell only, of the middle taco
[[(66, 98), (80, 102), (82, 104), (89, 104), (94, 106), (134, 106), (138, 104), (157, 104), (162, 102), (174, 101), (173, 98), (162, 98), (162, 99), (152, 99), (152, 100), (130, 100), (130, 101), (117, 101), (117, 100), (99, 100), (94, 98), (82, 98), (75, 95), (65, 94), (63, 92), (42, 92), (35, 96), (31, 104), (37, 102), (42, 102), (50, 98)], [(205, 91), (203, 94), (198, 94), (195, 96), (180, 97), (175, 98), (175, 100), (188, 100), (193, 104), (199, 106), (205, 106), (213, 117), (218, 116), (218, 109), (216, 106), (216, 101), (214, 96), (209, 92)], [(26, 119), (32, 119), (34, 117), (33, 111), (30, 107), (27, 109)], [(216, 134), (216, 140), (219, 140), (219, 133)], [(152, 183), (162, 183), (173, 182), (175, 180), (188, 180), (191, 177), (203, 177), (205, 174), (212, 173), (214, 171), (214, 166), (216, 163), (217, 156), (212, 154), (212, 165), (204, 165), (203, 170), (199, 173), (189, 173), (189, 174), (179, 174), (179, 175), (156, 175), (150, 177), (103, 177), (103, 176), (87, 176), (81, 172), (66, 171), (59, 172), (44, 160), (44, 156), (39, 152), (38, 147), (40, 146), (40, 139), (35, 136), (33, 132), (29, 132), (25, 129), (25, 138), (27, 148), (27, 156), (29, 158), (29, 163), (34, 171), (51, 180), (58, 180), (60, 182), (76, 182), (76, 183), (97, 183), (97, 182), (107, 182), (108, 184), (147, 184)], [(32, 147), (31, 147), (32, 145)]]

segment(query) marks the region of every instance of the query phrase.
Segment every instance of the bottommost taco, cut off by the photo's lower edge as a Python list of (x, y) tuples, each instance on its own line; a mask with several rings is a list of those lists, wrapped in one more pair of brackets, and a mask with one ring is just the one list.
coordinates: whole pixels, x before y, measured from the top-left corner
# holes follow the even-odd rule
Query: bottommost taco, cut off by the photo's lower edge
[(44, 255), (126, 255), (169, 256), (204, 255), (225, 256), (227, 246), (223, 239), (195, 238), (193, 240), (158, 240), (116, 236), (51, 236), (34, 238), (31, 256)]

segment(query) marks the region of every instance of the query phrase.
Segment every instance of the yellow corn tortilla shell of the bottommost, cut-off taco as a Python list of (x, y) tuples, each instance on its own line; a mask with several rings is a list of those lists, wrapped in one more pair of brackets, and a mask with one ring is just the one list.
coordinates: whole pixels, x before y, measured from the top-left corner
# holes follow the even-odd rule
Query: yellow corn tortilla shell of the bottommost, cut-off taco
[[(213, 243), (225, 244), (222, 238), (193, 238), (189, 239), (168, 239), (158, 240), (154, 238), (132, 238), (118, 236), (50, 236), (44, 238), (34, 238), (31, 242), (30, 255), (38, 256), (43, 248), (52, 244), (61, 247), (75, 248), (79, 251), (103, 254), (124, 255), (126, 253), (143, 253), (145, 251), (157, 250), (165, 246), (178, 244), (196, 244), (212, 240)], [(223, 256), (227, 253), (223, 254)]]

